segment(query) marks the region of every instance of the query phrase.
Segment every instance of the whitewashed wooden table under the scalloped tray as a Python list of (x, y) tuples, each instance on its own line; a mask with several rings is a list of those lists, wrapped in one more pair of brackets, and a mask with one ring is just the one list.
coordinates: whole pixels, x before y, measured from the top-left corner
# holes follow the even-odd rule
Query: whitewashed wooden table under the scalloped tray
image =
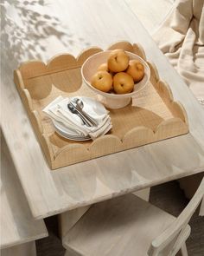
[[(7, 19), (2, 36), (1, 126), (35, 219), (203, 172), (203, 108), (127, 3), (122, 0), (49, 3), (45, 7), (40, 2), (13, 7), (10, 2), (3, 10), (11, 23), (8, 25)], [(189, 134), (51, 171), (16, 91), (13, 69), (32, 56), (43, 61), (60, 52), (77, 56), (88, 46), (106, 49), (118, 40), (140, 43), (147, 59), (156, 63), (175, 100), (182, 102), (187, 110)]]

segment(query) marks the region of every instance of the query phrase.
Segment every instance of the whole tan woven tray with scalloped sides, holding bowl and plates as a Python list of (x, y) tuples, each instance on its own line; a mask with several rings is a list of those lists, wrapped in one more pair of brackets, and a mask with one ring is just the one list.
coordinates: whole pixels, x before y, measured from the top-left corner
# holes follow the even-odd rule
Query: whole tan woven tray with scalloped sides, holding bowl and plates
[[(119, 42), (109, 49), (118, 48), (145, 60), (139, 44)], [(107, 135), (95, 141), (69, 141), (57, 135), (41, 110), (58, 95), (96, 97), (82, 82), (80, 67), (87, 57), (99, 51), (102, 49), (86, 49), (77, 58), (69, 54), (55, 56), (47, 65), (41, 61), (25, 62), (14, 71), (16, 87), (52, 169), (188, 133), (185, 109), (174, 102), (169, 85), (160, 80), (155, 65), (148, 62), (150, 82), (133, 99), (137, 107), (110, 109), (113, 128)]]

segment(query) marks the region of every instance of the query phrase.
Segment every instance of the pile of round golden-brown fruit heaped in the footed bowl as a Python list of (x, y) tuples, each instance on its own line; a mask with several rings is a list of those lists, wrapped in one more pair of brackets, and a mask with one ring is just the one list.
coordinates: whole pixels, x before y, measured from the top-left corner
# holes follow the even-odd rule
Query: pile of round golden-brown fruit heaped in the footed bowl
[(134, 89), (134, 82), (141, 81), (143, 75), (142, 62), (130, 60), (130, 56), (124, 49), (114, 49), (109, 54), (107, 62), (100, 64), (98, 72), (92, 75), (91, 84), (94, 88), (106, 93), (112, 92), (113, 85), (115, 94), (129, 94)]

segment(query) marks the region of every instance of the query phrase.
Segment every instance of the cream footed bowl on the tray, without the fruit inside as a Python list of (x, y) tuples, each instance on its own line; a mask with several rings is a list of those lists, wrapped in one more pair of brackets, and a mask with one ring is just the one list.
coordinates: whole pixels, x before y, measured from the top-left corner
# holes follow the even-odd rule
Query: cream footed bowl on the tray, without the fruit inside
[(137, 95), (144, 87), (147, 82), (150, 80), (150, 68), (146, 62), (140, 56), (137, 56), (131, 52), (125, 51), (128, 56), (130, 56), (131, 60), (137, 60), (143, 63), (144, 67), (144, 76), (140, 82), (135, 84), (133, 91), (129, 94), (117, 95), (113, 93), (105, 93), (100, 91), (99, 89), (95, 89), (91, 84), (92, 75), (97, 72), (99, 65), (107, 62), (108, 56), (112, 50), (101, 51), (97, 54), (94, 54), (86, 59), (86, 62), (81, 67), (81, 75), (86, 82), (86, 85), (92, 89), (95, 93), (98, 94), (99, 101), (105, 104), (107, 108), (124, 108), (131, 102), (131, 97)]

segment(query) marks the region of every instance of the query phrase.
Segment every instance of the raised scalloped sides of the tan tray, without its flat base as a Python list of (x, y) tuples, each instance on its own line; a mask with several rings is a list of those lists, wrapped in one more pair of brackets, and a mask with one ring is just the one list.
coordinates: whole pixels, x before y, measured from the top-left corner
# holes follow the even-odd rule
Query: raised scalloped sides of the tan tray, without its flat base
[[(145, 61), (146, 57), (143, 48), (137, 43), (118, 42), (112, 44), (108, 49), (124, 49), (141, 56)], [(72, 55), (60, 55), (52, 58), (48, 64), (41, 61), (24, 62), (14, 71), (14, 82), (21, 95), (22, 102), (29, 114), (29, 119), (35, 129), (35, 134), (41, 143), (41, 148), (51, 169), (65, 167), (80, 161), (86, 161), (106, 154), (112, 154), (125, 149), (136, 148), (156, 141), (162, 141), (178, 135), (188, 133), (188, 117), (185, 109), (180, 102), (174, 102), (173, 95), (166, 82), (160, 80), (156, 67), (153, 63), (148, 62), (151, 71), (150, 82), (156, 89), (156, 93), (162, 98), (163, 102), (169, 108), (173, 115), (168, 120), (163, 120), (155, 130), (144, 126), (131, 128), (122, 139), (117, 135), (104, 135), (89, 145), (83, 143), (68, 143), (64, 147), (54, 150), (50, 135), (45, 132), (41, 123), (41, 115), (35, 109), (33, 99), (26, 86), (26, 82), (43, 75), (52, 75), (65, 70), (80, 69), (83, 62), (89, 56), (101, 51), (97, 47), (86, 49), (80, 56), (74, 58)], [(81, 87), (80, 82), (71, 89), (71, 92), (77, 92)]]

